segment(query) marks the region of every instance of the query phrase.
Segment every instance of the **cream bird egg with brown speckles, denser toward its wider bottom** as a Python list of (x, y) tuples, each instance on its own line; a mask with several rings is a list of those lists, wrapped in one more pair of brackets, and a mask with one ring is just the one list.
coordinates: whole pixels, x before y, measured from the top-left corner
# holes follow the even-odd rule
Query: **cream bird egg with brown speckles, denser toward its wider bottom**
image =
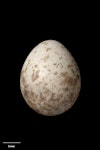
[(20, 74), (20, 89), (26, 103), (37, 113), (64, 113), (76, 102), (80, 88), (78, 65), (60, 42), (43, 41), (27, 56)]

